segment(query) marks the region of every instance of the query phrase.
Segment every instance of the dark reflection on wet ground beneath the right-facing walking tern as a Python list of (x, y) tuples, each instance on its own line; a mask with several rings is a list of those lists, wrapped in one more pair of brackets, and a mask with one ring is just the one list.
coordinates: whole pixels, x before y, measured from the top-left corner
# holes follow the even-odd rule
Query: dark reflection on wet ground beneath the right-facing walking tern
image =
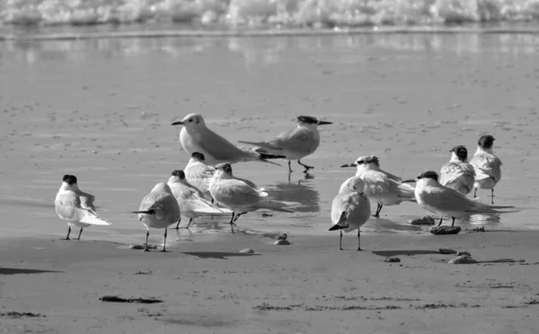
[(294, 209), (296, 212), (320, 212), (320, 194), (314, 189), (311, 180), (277, 182), (266, 189), (271, 191), (271, 198), (301, 203), (301, 207)]

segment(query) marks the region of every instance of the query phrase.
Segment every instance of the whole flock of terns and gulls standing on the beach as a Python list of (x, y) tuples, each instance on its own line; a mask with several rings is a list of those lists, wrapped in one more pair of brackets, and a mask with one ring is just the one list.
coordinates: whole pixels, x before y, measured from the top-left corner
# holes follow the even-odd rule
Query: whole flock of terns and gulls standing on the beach
[[(163, 251), (166, 251), (167, 229), (172, 224), (179, 228), (181, 217), (193, 219), (202, 216), (231, 216), (230, 225), (241, 216), (258, 209), (294, 212), (301, 203), (270, 199), (263, 188), (251, 180), (234, 176), (233, 163), (261, 162), (287, 159), (305, 168), (301, 159), (320, 145), (318, 126), (331, 122), (309, 116), (299, 116), (296, 128), (283, 132), (270, 141), (241, 141), (252, 145), (240, 147), (210, 130), (199, 114), (190, 114), (172, 125), (181, 125), (180, 142), (190, 154), (190, 161), (183, 171), (172, 171), (169, 180), (160, 182), (147, 194), (134, 214), (146, 226), (146, 247), (150, 228), (164, 229)], [(501, 179), (501, 161), (493, 154), (494, 137), (481, 136), (477, 151), (468, 163), (468, 151), (463, 145), (451, 149), (451, 159), (442, 166), (440, 177), (436, 171), (421, 172), (417, 178), (402, 180), (380, 168), (376, 155), (359, 157), (354, 163), (341, 167), (356, 167), (356, 175), (345, 180), (331, 205), (330, 231), (340, 231), (339, 249), (342, 250), (342, 232), (358, 230), (358, 251), (361, 251), (360, 227), (371, 217), (370, 202), (376, 202), (374, 217), (379, 217), (384, 206), (394, 206), (402, 201), (417, 202), (420, 207), (443, 217), (464, 218), (474, 214), (497, 214), (511, 208), (493, 206), (494, 187)], [(410, 183), (415, 182), (413, 187)], [(491, 204), (479, 202), (477, 189), (490, 189)], [(473, 198), (467, 195), (474, 190)], [(72, 228), (79, 227), (80, 240), (84, 227), (110, 225), (95, 211), (94, 197), (78, 188), (74, 175), (65, 175), (55, 200), (57, 215), (68, 223), (66, 240)]]

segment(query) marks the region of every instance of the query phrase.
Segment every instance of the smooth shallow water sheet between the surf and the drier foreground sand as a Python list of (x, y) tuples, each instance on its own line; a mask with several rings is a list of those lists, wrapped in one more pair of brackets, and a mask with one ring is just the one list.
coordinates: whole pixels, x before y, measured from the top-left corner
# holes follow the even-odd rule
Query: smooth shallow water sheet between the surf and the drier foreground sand
[[(288, 181), (285, 161), (234, 165), (270, 196), (305, 205), (295, 214), (243, 215), (237, 224), (248, 233), (327, 233), (331, 199), (355, 173), (341, 164), (377, 154), (382, 168), (409, 178), (438, 171), (454, 145), (473, 154), (483, 133), (497, 138), (504, 163), (495, 203), (521, 211), (458, 224), (537, 228), (535, 34), (4, 40), (0, 51), (3, 235), (63, 235), (53, 201), (73, 173), (114, 224), (83, 238), (139, 242), (144, 227), (130, 212), (187, 163), (180, 127), (170, 124), (190, 112), (232, 142), (269, 138), (295, 127), (297, 115), (334, 122), (303, 160), (316, 167), (307, 180), (294, 164)], [(364, 230), (420, 233), (406, 221), (428, 213), (402, 203), (382, 215)], [(229, 229), (214, 222), (194, 235)]]

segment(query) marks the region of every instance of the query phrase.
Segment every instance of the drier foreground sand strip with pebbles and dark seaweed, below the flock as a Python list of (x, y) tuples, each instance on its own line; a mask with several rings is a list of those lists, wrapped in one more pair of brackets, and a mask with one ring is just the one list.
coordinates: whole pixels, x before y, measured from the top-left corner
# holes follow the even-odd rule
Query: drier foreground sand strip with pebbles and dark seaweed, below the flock
[[(290, 236), (288, 246), (236, 233), (173, 242), (168, 253), (11, 240), (0, 251), (0, 319), (9, 333), (535, 333), (538, 237), (368, 235), (364, 251), (338, 251), (337, 233)], [(356, 247), (353, 234), (344, 247)], [(238, 253), (244, 248), (255, 254)], [(455, 255), (439, 248), (526, 262), (450, 265)], [(163, 303), (105, 303), (103, 295)]]

